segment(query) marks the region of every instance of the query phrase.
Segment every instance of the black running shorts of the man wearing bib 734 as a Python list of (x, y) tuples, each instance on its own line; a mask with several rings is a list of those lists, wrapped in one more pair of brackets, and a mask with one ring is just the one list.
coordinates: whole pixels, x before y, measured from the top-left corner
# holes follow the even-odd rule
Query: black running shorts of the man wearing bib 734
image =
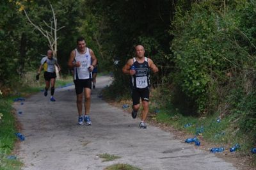
[(140, 98), (141, 101), (147, 101), (149, 100), (149, 89), (148, 88), (133, 88), (132, 89), (132, 104), (140, 104)]

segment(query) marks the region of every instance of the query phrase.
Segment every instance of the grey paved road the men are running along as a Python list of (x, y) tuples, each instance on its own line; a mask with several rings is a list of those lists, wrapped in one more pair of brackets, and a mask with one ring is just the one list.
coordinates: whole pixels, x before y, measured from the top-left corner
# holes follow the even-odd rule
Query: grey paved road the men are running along
[[(78, 126), (74, 86), (56, 89), (56, 102), (38, 93), (14, 104), (26, 140), (20, 143), (18, 157), (23, 169), (104, 169), (116, 163), (141, 169), (236, 169), (213, 153), (174, 139), (173, 134), (148, 125), (138, 128), (122, 108), (117, 109), (97, 97), (111, 83), (97, 79), (92, 91), (92, 126)], [(97, 155), (109, 153), (121, 158), (102, 162)]]

